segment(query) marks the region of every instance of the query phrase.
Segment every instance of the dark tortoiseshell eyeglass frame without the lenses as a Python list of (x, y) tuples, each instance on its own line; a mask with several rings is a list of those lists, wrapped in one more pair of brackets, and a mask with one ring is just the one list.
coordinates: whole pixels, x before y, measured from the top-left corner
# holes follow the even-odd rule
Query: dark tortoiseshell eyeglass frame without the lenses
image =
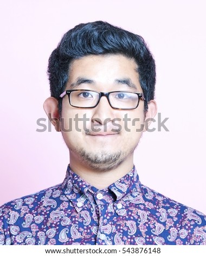
[[(99, 100), (96, 102), (96, 105), (93, 106), (93, 107), (77, 107), (77, 106), (74, 106), (74, 105), (72, 105), (71, 102), (70, 102), (70, 94), (71, 94), (72, 92), (77, 92), (77, 91), (79, 91), (79, 92), (95, 92), (95, 93), (98, 93), (98, 94), (99, 94)], [(137, 94), (137, 95), (138, 95), (138, 99), (139, 99), (139, 100), (145, 100), (145, 97), (144, 97), (143, 93), (128, 92), (128, 91), (126, 91), (126, 90), (115, 90), (115, 91), (112, 91), (112, 92), (103, 93), (103, 92), (97, 92), (97, 91), (95, 91), (95, 90), (83, 90), (83, 89), (79, 89), (79, 90), (78, 90), (78, 89), (74, 89), (74, 90), (66, 90), (65, 92), (63, 92), (63, 93), (60, 95), (60, 98), (63, 98), (65, 95), (68, 95), (69, 104), (70, 104), (72, 107), (77, 107), (77, 108), (94, 108), (94, 107), (96, 107), (96, 106), (99, 104), (99, 102), (100, 102), (102, 96), (105, 96), (105, 97), (107, 98), (107, 100), (108, 100), (110, 106), (111, 106), (112, 108), (114, 108), (114, 109), (135, 109), (135, 108), (137, 108), (137, 107), (139, 106), (139, 100), (138, 100), (137, 106), (136, 106), (136, 107), (133, 107), (133, 108), (117, 108), (117, 107), (113, 107), (112, 104), (111, 104), (111, 102), (110, 102), (110, 98), (109, 98), (109, 96), (110, 96), (111, 93), (134, 93), (134, 94)]]

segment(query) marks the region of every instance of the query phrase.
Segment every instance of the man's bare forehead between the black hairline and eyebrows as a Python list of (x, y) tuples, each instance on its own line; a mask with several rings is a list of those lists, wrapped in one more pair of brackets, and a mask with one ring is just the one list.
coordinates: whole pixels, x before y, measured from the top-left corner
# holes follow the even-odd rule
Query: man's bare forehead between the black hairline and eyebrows
[(72, 89), (77, 84), (79, 86), (78, 81), (91, 81), (90, 83), (99, 85), (130, 81), (131, 84), (139, 87), (137, 69), (138, 65), (134, 59), (121, 54), (85, 56), (73, 60), (70, 64), (67, 88)]

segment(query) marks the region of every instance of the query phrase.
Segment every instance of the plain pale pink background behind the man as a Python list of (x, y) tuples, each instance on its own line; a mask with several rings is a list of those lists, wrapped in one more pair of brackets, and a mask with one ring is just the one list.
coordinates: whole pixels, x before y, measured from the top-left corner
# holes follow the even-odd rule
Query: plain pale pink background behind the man
[[(46, 118), (47, 62), (61, 36), (104, 20), (140, 34), (157, 64), (158, 112), (169, 132), (147, 132), (135, 153), (144, 185), (206, 214), (205, 1), (1, 1), (0, 205), (62, 182), (69, 163)], [(157, 125), (152, 125), (157, 127)]]

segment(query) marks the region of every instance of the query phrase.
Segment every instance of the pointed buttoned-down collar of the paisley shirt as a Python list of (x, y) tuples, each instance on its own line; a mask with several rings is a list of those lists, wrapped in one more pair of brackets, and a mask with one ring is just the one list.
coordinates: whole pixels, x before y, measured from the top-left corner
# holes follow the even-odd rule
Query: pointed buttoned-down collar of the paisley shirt
[(135, 199), (140, 193), (139, 176), (133, 166), (132, 170), (123, 178), (115, 181), (104, 190), (98, 190), (98, 188), (88, 184), (87, 181), (75, 174), (68, 165), (66, 178), (62, 183), (62, 190), (77, 212), (80, 212), (88, 201), (94, 203), (94, 200), (98, 200), (98, 194), (100, 193), (103, 196), (101, 203), (112, 200), (114, 205), (121, 204), (125, 206), (128, 201)]

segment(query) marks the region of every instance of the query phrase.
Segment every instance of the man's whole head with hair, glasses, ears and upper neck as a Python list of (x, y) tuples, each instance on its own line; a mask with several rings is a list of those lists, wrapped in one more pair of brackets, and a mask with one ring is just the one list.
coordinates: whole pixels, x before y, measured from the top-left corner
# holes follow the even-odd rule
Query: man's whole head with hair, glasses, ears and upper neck
[(62, 132), (70, 165), (132, 168), (145, 118), (156, 114), (155, 64), (143, 38), (102, 21), (80, 24), (51, 54), (48, 74), (44, 109)]

